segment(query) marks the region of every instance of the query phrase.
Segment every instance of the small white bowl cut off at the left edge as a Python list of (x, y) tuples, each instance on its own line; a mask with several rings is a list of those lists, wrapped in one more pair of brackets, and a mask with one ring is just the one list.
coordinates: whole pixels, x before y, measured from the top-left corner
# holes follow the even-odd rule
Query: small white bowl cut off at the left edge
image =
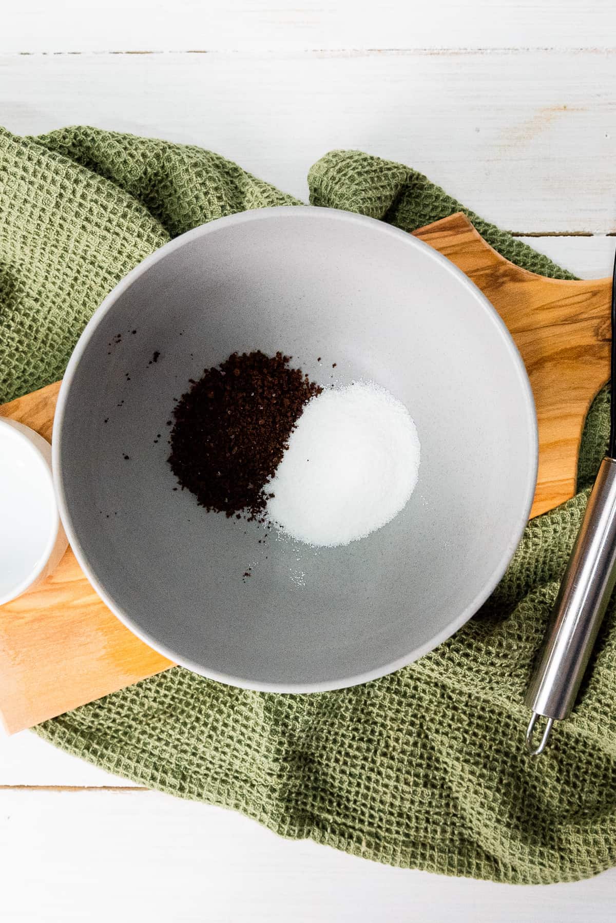
[(55, 502), (52, 447), (0, 418), (0, 605), (54, 570), (68, 540)]

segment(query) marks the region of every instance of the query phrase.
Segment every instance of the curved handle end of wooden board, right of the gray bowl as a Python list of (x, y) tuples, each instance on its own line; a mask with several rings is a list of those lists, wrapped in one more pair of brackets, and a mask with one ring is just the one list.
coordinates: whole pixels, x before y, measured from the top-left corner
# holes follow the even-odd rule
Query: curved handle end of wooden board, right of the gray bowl
[(531, 518), (575, 493), (586, 414), (610, 378), (611, 279), (547, 279), (523, 270), (458, 212), (415, 236), (451, 259), (501, 315), (537, 406), (539, 465)]

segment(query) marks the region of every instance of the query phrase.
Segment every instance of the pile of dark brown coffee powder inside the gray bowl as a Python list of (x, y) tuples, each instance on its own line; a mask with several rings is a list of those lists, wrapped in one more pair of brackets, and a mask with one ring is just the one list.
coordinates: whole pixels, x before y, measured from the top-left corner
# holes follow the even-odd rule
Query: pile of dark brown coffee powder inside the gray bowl
[(322, 388), (292, 356), (234, 353), (205, 369), (177, 403), (169, 464), (206, 509), (263, 516), (266, 485), (288, 448), (304, 405)]

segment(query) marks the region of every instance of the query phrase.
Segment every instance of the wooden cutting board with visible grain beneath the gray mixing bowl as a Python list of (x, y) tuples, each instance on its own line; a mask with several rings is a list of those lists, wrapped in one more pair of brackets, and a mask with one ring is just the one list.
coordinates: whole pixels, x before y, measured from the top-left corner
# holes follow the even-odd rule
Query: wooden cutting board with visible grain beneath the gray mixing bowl
[[(537, 403), (539, 467), (531, 517), (573, 497), (590, 402), (610, 377), (611, 280), (566, 282), (518, 269), (457, 214), (416, 236), (451, 259), (511, 330)], [(59, 382), (0, 407), (51, 440)], [(173, 664), (94, 593), (70, 548), (54, 574), (0, 606), (0, 714), (9, 734)]]

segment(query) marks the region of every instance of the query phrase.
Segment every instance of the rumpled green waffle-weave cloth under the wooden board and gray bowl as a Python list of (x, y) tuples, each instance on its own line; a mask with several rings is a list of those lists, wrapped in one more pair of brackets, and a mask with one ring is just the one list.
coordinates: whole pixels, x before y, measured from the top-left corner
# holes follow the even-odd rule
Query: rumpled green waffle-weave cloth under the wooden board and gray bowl
[[(408, 167), (357, 151), (327, 154), (308, 183), (314, 204), (406, 231), (465, 210)], [(0, 131), (0, 401), (60, 378), (103, 296), (170, 237), (294, 202), (195, 147), (84, 127), (25, 139)], [(571, 278), (465, 211), (505, 257)], [(308, 696), (233, 689), (175, 667), (37, 733), (143, 785), (396, 866), (531, 883), (616, 864), (613, 606), (574, 715), (540, 760), (525, 755), (522, 703), (608, 410), (602, 393), (586, 422), (581, 492), (528, 524), (489, 602), (416, 664)]]

